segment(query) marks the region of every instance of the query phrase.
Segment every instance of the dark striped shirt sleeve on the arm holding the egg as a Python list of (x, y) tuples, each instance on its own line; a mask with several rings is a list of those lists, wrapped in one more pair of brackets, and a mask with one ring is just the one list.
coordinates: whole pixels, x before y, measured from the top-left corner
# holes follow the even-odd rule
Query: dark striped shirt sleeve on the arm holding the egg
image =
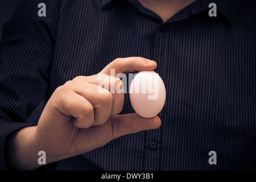
[[(39, 3), (46, 16), (39, 16)], [(25, 0), (3, 26), (0, 41), (0, 170), (6, 170), (4, 144), (24, 127), (44, 97), (59, 23), (59, 1)], [(5, 151), (8, 152), (8, 151)]]

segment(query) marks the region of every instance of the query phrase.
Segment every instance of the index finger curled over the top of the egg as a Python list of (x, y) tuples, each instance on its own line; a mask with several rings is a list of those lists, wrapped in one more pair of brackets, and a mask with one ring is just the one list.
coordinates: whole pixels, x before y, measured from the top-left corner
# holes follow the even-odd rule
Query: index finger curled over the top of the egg
[[(118, 73), (128, 73), (135, 71), (150, 71), (156, 68), (155, 61), (143, 58), (143, 57), (125, 57), (117, 58), (108, 65), (100, 73), (106, 73), (110, 75), (111, 69), (114, 69), (114, 75)], [(113, 72), (112, 72), (113, 73)]]

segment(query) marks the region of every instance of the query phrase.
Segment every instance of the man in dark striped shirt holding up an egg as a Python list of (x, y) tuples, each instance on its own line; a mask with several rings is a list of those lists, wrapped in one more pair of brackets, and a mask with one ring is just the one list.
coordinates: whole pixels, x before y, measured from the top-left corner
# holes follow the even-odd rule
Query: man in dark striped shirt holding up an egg
[[(255, 1), (215, 1), (213, 17), (207, 0), (45, 1), (46, 17), (39, 3), (23, 2), (1, 42), (1, 169), (39, 168), (39, 151), (56, 170), (256, 169)], [(161, 119), (98, 93), (110, 69), (155, 69)]]

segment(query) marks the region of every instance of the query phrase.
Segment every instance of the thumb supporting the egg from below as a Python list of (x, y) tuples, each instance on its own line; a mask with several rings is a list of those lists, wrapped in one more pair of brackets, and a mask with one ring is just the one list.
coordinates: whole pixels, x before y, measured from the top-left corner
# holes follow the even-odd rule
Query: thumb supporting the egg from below
[(156, 115), (152, 118), (143, 118), (137, 113), (117, 114), (112, 119), (112, 139), (123, 135), (138, 133), (143, 130), (158, 129), (161, 125), (161, 119)]

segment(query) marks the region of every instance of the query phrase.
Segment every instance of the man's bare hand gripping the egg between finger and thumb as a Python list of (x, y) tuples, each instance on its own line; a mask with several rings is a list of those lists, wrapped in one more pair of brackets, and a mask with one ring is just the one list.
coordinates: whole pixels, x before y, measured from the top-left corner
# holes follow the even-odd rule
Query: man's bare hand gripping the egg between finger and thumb
[(39, 167), (38, 151), (45, 151), (47, 163), (51, 163), (104, 146), (122, 135), (158, 128), (161, 121), (157, 116), (118, 114), (123, 107), (123, 93), (110, 93), (98, 86), (101, 80), (97, 79), (101, 73), (109, 75), (106, 84), (110, 88), (112, 84), (122, 84), (110, 76), (110, 69), (118, 74), (155, 68), (155, 61), (142, 57), (118, 58), (97, 75), (78, 76), (59, 86), (44, 107), (38, 126), (20, 130), (9, 140), (10, 167)]

